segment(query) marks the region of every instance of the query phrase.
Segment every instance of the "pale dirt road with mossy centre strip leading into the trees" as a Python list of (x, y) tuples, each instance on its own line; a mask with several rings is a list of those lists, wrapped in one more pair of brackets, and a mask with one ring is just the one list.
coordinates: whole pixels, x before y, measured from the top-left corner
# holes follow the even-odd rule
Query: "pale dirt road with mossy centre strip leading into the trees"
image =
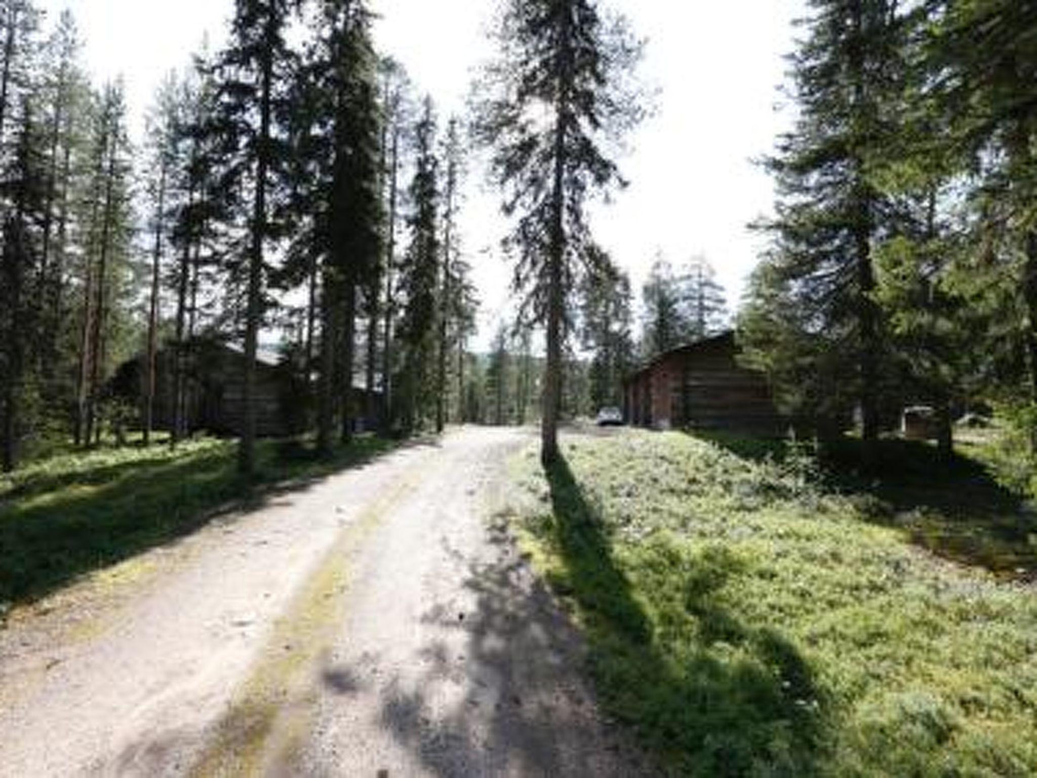
[(0, 776), (636, 776), (466, 428), (275, 495), (0, 631)]

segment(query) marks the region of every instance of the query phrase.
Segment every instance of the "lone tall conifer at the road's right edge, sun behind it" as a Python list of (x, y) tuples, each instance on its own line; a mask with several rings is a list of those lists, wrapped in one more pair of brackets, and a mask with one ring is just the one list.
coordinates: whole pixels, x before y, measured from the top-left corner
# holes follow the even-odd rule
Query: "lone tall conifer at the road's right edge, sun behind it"
[(626, 88), (640, 46), (622, 20), (592, 0), (508, 0), (498, 31), (500, 59), (484, 74), (476, 137), (494, 149), (495, 182), (517, 216), (508, 242), (516, 287), (532, 319), (546, 327), (541, 459), (558, 457), (563, 352), (570, 296), (593, 250), (584, 205), (621, 185), (608, 143), (640, 118)]

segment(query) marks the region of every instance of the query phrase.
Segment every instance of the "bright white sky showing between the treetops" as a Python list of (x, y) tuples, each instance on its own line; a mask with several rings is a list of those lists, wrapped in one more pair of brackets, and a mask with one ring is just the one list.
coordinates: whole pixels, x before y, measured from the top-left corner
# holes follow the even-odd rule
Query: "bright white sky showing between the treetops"
[[(121, 75), (139, 131), (165, 73), (185, 66), (207, 33), (224, 37), (232, 0), (37, 0), (51, 20), (72, 8), (84, 59), (103, 80)], [(774, 189), (752, 160), (787, 126), (777, 87), (804, 0), (602, 0), (647, 38), (644, 80), (658, 90), (655, 114), (621, 160), (630, 187), (595, 212), (595, 233), (640, 290), (657, 251), (674, 265), (704, 254), (732, 308), (760, 249), (748, 222), (770, 211)], [(380, 49), (408, 68), (443, 116), (460, 111), (473, 70), (489, 54), (493, 0), (372, 0)], [(497, 248), (499, 197), (469, 185), (463, 229), (483, 302), (484, 346), (509, 308), (510, 271)]]

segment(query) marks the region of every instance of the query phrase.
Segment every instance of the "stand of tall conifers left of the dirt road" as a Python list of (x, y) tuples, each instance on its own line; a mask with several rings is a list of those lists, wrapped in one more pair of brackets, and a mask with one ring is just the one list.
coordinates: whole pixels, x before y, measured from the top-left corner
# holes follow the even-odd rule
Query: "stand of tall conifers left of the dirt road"
[[(374, 50), (370, 21), (359, 2), (239, 3), (226, 48), (169, 74), (134, 144), (72, 13), (3, 4), (4, 469), (128, 430), (146, 444), (160, 395), (175, 447), (213, 342), (244, 354), (246, 409), (257, 351), (276, 350), (323, 450), (362, 413), (351, 383), (377, 382), (402, 434), (463, 417), (465, 130)], [(140, 389), (120, 392), (134, 358)], [(248, 471), (254, 413), (240, 432)]]

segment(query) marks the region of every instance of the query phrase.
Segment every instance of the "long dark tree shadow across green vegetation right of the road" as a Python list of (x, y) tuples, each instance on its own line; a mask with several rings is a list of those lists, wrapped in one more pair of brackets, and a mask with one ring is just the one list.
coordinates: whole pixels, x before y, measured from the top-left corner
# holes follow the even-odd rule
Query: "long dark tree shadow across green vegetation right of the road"
[(681, 773), (822, 772), (825, 695), (794, 645), (724, 606), (738, 560), (661, 545), (639, 557), (636, 592), (568, 464), (546, 475), (554, 518), (541, 531), (562, 565), (551, 583), (578, 607), (606, 705)]

